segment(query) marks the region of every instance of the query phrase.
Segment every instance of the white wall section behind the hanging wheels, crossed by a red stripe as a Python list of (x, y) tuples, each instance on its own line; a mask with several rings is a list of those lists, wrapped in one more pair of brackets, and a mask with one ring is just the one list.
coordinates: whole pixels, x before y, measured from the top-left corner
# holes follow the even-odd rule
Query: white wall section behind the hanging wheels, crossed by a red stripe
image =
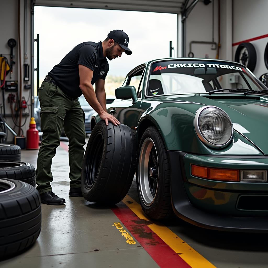
[[(255, 38), (268, 33), (267, 0), (234, 0), (233, 1), (233, 43)], [(260, 77), (268, 72), (264, 64), (264, 50), (268, 38), (251, 41), (256, 49), (257, 63), (254, 74)], [(238, 45), (233, 46), (233, 58)]]

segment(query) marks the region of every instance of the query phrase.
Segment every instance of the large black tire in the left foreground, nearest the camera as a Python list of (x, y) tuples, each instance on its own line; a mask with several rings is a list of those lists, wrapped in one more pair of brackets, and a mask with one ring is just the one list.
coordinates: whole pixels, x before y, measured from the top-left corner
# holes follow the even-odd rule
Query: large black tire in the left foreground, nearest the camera
[(41, 200), (27, 183), (0, 178), (0, 259), (30, 247), (41, 230)]

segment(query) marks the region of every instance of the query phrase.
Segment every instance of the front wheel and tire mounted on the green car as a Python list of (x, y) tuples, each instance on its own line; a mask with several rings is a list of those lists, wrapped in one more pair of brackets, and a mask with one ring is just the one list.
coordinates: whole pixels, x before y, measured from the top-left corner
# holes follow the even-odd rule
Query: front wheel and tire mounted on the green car
[(168, 153), (161, 134), (154, 126), (148, 127), (142, 135), (137, 165), (137, 190), (144, 213), (155, 220), (171, 217)]

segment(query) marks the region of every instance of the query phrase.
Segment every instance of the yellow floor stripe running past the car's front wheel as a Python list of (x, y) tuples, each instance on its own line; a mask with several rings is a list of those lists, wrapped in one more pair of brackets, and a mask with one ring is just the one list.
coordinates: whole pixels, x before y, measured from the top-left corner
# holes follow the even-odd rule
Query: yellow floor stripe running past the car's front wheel
[[(143, 213), (140, 204), (133, 200), (130, 196), (122, 200), (126, 206), (129, 207), (140, 219), (151, 221)], [(200, 255), (180, 237), (173, 233), (169, 228), (159, 223), (150, 224), (148, 227), (157, 234), (166, 244), (168, 244), (176, 253), (180, 253), (180, 257), (185, 260), (192, 268), (216, 268), (206, 258)]]

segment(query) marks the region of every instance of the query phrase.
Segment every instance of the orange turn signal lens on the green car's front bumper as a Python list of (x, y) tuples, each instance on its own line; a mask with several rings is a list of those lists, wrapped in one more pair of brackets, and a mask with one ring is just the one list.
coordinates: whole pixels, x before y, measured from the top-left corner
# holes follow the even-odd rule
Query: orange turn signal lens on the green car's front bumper
[(219, 181), (239, 181), (239, 170), (217, 169), (202, 166), (191, 166), (192, 175), (200, 178)]

